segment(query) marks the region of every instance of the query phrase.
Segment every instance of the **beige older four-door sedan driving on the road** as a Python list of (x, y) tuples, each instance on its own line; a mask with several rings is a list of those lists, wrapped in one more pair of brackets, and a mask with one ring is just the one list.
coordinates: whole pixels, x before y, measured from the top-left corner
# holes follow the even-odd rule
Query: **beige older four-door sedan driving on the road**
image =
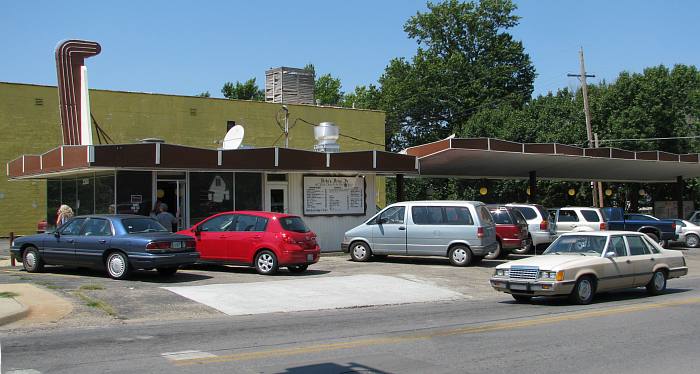
[(666, 280), (688, 274), (680, 251), (661, 248), (645, 234), (627, 231), (577, 232), (560, 236), (542, 256), (496, 267), (491, 286), (516, 301), (568, 295), (588, 304), (596, 292), (646, 287), (651, 295)]

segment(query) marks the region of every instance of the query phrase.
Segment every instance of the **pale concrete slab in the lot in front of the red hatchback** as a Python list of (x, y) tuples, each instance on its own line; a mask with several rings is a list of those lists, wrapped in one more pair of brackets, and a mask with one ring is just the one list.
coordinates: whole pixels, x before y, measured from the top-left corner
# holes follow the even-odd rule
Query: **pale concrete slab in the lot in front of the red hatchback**
[(455, 300), (464, 295), (384, 275), (163, 287), (228, 315)]

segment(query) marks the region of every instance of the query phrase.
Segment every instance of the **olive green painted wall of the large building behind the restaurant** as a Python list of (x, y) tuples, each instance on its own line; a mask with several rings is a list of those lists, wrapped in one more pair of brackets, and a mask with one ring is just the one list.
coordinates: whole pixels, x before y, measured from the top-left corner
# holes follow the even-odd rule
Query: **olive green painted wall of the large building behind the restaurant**
[[(43, 105), (37, 105), (37, 99)], [(281, 130), (275, 121), (279, 114), (283, 124), (280, 104), (104, 90), (90, 90), (90, 104), (92, 115), (115, 143), (157, 137), (171, 144), (218, 148), (226, 121), (233, 120), (245, 127), (244, 145), (284, 146), (283, 138), (277, 140)], [(290, 126), (298, 118), (311, 123), (335, 122), (344, 135), (384, 143), (383, 112), (287, 106)], [(6, 163), (23, 154), (41, 154), (57, 147), (61, 144), (60, 122), (56, 87), (0, 82), (0, 160)], [(97, 136), (93, 137), (97, 143)], [(290, 130), (289, 146), (313, 149), (314, 143), (313, 127), (297, 121)], [(341, 151), (383, 149), (342, 137), (339, 144)], [(377, 180), (378, 204), (383, 206), (384, 178)], [(8, 181), (6, 174), (0, 178), (0, 236), (10, 231), (34, 232), (45, 212), (44, 181)]]

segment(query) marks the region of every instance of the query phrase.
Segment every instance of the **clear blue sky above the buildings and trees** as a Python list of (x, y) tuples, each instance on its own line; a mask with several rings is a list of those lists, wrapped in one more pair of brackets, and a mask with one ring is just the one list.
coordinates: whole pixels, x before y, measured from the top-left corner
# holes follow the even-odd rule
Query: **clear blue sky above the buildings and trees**
[[(575, 87), (578, 49), (596, 78), (658, 64), (700, 65), (700, 1), (517, 1), (522, 40), (538, 73), (535, 94)], [(226, 81), (303, 67), (341, 78), (345, 91), (375, 83), (416, 44), (404, 22), (425, 1), (3, 1), (0, 81), (56, 84), (54, 49), (94, 40), (92, 88), (220, 97)]]

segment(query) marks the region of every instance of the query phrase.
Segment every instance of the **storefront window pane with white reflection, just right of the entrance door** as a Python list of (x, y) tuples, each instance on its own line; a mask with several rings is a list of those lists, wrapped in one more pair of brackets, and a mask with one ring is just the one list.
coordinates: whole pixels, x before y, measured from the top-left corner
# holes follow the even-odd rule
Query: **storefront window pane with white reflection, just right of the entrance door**
[(190, 222), (233, 210), (233, 173), (190, 173)]

